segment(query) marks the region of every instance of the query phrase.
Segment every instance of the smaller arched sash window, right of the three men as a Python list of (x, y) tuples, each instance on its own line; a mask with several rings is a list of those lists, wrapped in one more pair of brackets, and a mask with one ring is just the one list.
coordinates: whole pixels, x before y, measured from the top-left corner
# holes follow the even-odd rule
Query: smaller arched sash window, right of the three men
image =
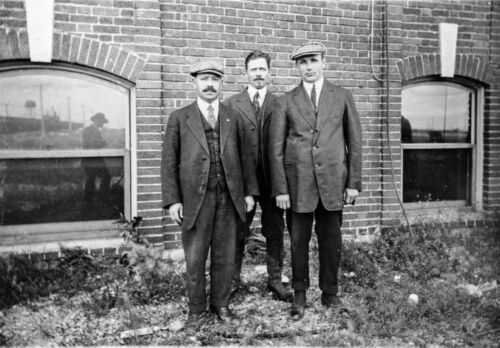
[(479, 208), (480, 91), (445, 80), (403, 87), (403, 202)]

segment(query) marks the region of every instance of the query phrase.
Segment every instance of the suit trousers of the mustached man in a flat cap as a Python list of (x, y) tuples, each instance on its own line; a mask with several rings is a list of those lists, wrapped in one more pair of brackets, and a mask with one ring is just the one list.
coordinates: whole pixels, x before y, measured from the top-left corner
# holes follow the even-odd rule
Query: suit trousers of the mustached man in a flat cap
[(205, 267), (209, 251), (210, 304), (217, 307), (228, 305), (239, 221), (229, 191), (218, 183), (209, 183), (193, 227), (182, 230), (191, 313), (206, 310)]

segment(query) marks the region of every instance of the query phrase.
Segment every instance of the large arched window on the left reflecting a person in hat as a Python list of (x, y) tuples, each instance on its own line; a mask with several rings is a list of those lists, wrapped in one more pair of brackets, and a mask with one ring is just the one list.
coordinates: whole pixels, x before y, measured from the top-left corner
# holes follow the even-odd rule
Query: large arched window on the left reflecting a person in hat
[(130, 86), (37, 65), (0, 70), (0, 86), (2, 229), (96, 230), (127, 214)]

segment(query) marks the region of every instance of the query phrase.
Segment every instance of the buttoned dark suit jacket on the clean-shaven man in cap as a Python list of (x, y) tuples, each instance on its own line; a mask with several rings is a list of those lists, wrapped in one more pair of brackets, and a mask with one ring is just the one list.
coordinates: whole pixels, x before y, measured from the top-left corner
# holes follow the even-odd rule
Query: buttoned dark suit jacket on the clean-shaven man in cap
[(290, 194), (292, 209), (343, 208), (346, 187), (361, 191), (361, 125), (349, 91), (326, 81), (318, 115), (302, 84), (280, 100), (270, 129), (272, 195)]

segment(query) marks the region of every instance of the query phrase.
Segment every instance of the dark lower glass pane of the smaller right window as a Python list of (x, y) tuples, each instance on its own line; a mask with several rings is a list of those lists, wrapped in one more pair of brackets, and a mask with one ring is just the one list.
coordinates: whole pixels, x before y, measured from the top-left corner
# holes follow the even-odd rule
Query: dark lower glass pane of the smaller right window
[(472, 150), (403, 150), (403, 202), (470, 201)]

